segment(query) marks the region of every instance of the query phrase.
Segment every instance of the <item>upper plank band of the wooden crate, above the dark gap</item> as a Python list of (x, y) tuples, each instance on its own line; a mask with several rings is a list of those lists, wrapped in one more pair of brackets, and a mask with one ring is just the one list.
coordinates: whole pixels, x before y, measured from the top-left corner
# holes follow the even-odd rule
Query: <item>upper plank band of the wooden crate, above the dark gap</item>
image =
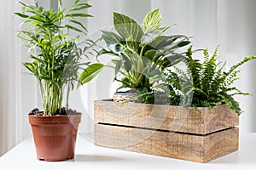
[(227, 105), (181, 107), (109, 100), (94, 102), (95, 122), (148, 127), (181, 133), (207, 134), (239, 125), (239, 116)]

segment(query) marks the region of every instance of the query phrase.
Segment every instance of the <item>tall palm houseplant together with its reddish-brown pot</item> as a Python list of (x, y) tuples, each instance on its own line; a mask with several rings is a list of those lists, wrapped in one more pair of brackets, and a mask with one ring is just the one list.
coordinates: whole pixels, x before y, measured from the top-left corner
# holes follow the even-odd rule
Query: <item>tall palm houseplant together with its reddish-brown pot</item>
[(79, 85), (89, 82), (103, 66), (80, 63), (94, 43), (86, 40), (87, 46), (82, 48), (80, 36), (68, 37), (71, 31), (86, 34), (86, 28), (76, 19), (90, 17), (83, 13), (90, 5), (75, 0), (69, 8), (62, 8), (61, 3), (59, 0), (58, 9), (54, 10), (40, 7), (38, 2), (20, 2), (22, 12), (15, 13), (26, 25), (18, 31), (18, 37), (27, 43), (28, 57), (32, 59), (23, 65), (37, 78), (44, 104), (44, 111), (34, 109), (29, 113), (37, 157), (44, 161), (73, 158), (81, 113), (69, 108), (68, 97), (78, 80)]

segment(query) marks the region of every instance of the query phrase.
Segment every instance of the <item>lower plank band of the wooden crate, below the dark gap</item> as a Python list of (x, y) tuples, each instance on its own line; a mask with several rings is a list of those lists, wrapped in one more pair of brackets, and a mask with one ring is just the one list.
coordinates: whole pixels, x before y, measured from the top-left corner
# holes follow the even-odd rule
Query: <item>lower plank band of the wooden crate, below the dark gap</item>
[(238, 150), (238, 138), (236, 127), (201, 136), (95, 124), (98, 146), (197, 162)]

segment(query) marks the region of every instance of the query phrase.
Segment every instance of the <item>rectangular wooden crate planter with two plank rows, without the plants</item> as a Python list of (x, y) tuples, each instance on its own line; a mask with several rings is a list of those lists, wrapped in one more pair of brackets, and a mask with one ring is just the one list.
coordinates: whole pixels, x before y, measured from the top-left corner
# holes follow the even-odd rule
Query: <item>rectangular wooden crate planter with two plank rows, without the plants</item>
[(207, 162), (238, 150), (239, 118), (228, 106), (95, 101), (95, 144), (187, 161)]

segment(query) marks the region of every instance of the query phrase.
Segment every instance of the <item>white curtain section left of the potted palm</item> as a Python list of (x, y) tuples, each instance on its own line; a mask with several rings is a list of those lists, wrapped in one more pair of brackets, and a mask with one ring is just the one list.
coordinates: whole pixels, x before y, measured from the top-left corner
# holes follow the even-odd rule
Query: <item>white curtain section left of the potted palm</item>
[(0, 156), (31, 134), (27, 114), (38, 105), (36, 82), (21, 65), (27, 60), (27, 48), (16, 36), (20, 29), (20, 19), (14, 18), (20, 11), (16, 2), (0, 2)]

